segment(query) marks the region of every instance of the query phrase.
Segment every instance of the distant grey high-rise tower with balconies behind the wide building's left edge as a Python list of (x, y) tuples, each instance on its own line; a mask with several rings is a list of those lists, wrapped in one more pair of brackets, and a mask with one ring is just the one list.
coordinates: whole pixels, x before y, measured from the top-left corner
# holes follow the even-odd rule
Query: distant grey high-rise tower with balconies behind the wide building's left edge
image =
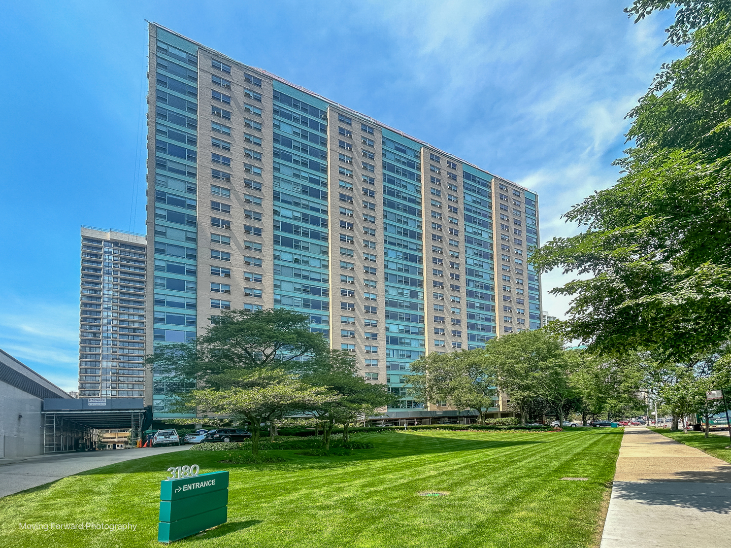
[(145, 396), (143, 235), (81, 228), (78, 397)]

